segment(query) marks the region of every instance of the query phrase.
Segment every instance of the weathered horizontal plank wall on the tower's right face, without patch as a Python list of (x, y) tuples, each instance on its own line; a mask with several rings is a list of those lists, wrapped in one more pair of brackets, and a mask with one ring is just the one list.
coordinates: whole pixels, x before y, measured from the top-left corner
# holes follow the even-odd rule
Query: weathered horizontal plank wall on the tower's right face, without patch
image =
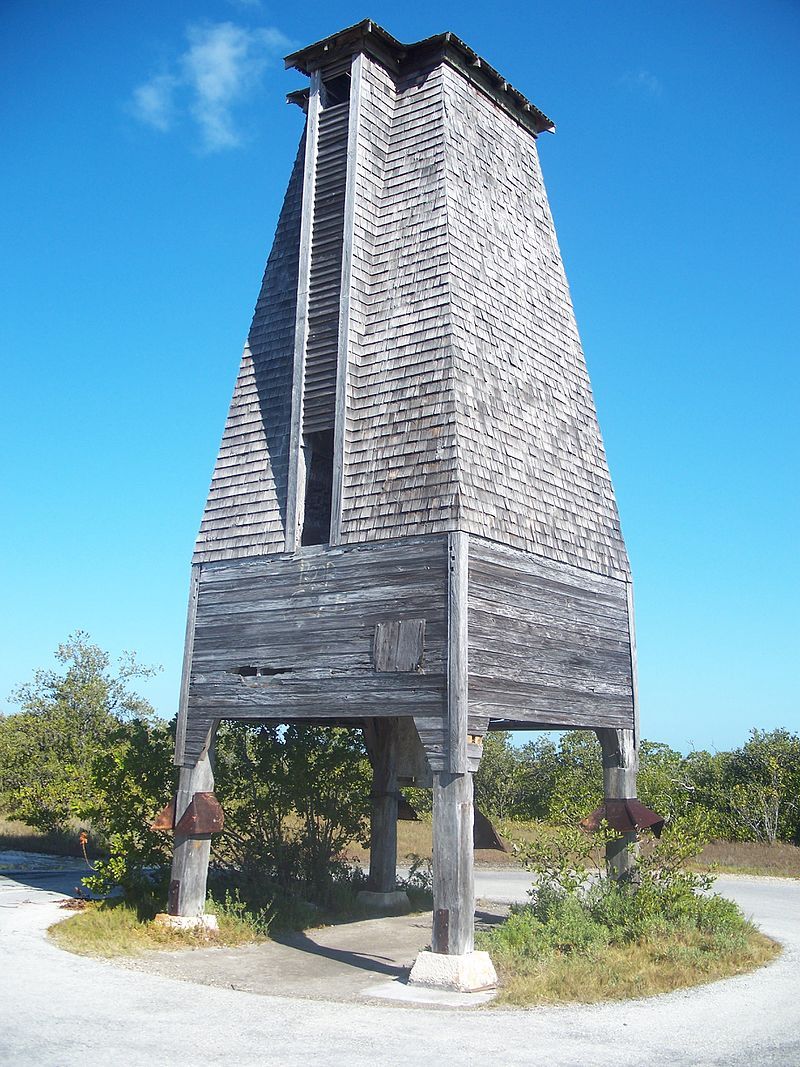
[(469, 579), (470, 717), (633, 726), (626, 582), (475, 537)]

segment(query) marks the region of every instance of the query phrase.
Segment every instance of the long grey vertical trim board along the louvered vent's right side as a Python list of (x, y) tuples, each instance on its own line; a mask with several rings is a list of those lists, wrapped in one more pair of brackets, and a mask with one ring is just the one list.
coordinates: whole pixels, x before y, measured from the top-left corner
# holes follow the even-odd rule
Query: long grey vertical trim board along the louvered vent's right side
[(347, 395), (350, 334), (350, 299), (353, 286), (353, 235), (355, 230), (358, 134), (362, 115), (362, 73), (364, 57), (355, 55), (350, 68), (350, 115), (347, 148), (347, 182), (342, 228), (339, 334), (336, 368), (336, 413), (334, 424), (333, 500), (331, 506), (331, 544), (341, 539), (341, 498), (347, 452)]

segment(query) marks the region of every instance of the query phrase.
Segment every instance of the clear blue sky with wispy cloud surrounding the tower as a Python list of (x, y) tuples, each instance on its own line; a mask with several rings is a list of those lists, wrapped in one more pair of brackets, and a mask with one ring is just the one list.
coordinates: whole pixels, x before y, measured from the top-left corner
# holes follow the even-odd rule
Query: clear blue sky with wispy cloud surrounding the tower
[[(800, 5), (41, 2), (0, 13), (0, 699), (81, 627), (163, 665), (301, 113), (281, 57), (450, 29), (540, 139), (636, 579), (642, 732), (798, 713)], [(2, 706), (2, 704), (0, 704)]]

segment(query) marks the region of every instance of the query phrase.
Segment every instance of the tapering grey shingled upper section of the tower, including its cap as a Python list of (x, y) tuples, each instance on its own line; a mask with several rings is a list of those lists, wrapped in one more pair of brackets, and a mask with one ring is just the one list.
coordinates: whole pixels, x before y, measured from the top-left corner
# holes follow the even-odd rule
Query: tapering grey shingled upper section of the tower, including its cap
[[(551, 123), (495, 84), (500, 76), (452, 34), (401, 45), (365, 21), (287, 65), (341, 69), (353, 55), (349, 105), (336, 105), (349, 107), (345, 141), (325, 148), (347, 154), (349, 204), (339, 253), (336, 540), (465, 530), (625, 578), (537, 153), (535, 134)], [(197, 562), (285, 551), (301, 216), (315, 165), (301, 143)]]

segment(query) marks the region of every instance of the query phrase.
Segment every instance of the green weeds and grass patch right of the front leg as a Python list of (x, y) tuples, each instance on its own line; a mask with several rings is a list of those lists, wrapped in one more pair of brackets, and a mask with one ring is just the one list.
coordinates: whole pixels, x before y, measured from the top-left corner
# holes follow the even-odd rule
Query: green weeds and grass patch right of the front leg
[(542, 892), (478, 935), (501, 989), (499, 1005), (652, 997), (751, 971), (780, 946), (735, 904), (692, 892), (650, 902), (613, 885)]

